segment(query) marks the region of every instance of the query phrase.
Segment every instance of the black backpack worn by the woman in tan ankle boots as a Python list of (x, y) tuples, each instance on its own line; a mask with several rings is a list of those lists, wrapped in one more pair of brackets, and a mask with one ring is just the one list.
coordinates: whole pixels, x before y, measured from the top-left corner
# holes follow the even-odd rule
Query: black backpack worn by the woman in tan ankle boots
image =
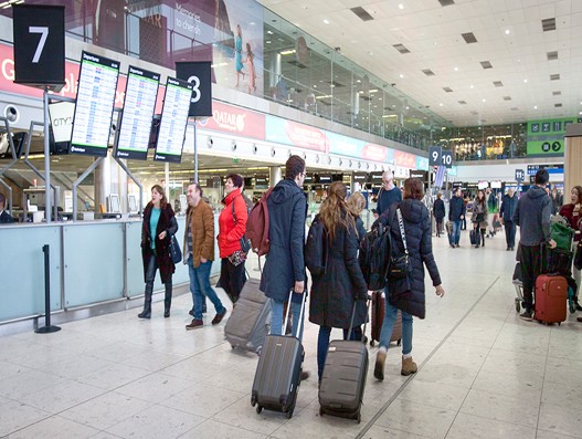
[(383, 226), (379, 221), (378, 227), (366, 233), (360, 241), (358, 252), (358, 262), (368, 290), (377, 291), (385, 286), (391, 250), (390, 226)]

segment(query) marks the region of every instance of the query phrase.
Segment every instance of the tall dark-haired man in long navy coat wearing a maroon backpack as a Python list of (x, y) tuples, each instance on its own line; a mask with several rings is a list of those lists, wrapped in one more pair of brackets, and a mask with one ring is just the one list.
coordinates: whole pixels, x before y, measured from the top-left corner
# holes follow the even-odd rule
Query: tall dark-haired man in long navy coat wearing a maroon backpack
[[(261, 291), (272, 300), (271, 334), (283, 332), (283, 305), (293, 290), (294, 335), (301, 339), (299, 324), (305, 300), (305, 218), (307, 200), (303, 191), (305, 160), (290, 156), (285, 165), (285, 179), (277, 182), (267, 200), (269, 251), (261, 278)], [(304, 313), (305, 314), (305, 313)], [(297, 334), (297, 328), (301, 331)]]

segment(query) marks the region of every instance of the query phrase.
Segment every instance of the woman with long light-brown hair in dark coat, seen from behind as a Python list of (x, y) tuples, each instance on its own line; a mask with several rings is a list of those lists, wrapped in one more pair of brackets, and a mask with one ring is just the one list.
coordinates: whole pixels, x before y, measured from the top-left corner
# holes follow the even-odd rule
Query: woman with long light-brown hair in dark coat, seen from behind
[(324, 373), (329, 336), (332, 327), (343, 331), (348, 336), (352, 310), (356, 302), (353, 326), (366, 322), (368, 286), (358, 263), (358, 234), (356, 220), (346, 202), (348, 190), (341, 181), (329, 186), (328, 197), (321, 203), (319, 215), (326, 237), (326, 270), (320, 275), (313, 275), (311, 301), (309, 303), (309, 322), (319, 325), (317, 341), (317, 368), (319, 380)]

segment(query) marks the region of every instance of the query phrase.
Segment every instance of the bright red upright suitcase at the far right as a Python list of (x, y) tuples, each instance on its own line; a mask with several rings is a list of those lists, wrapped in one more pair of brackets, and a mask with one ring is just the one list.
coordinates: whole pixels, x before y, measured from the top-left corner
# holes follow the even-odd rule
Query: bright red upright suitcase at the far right
[(561, 275), (540, 274), (536, 280), (536, 320), (542, 323), (565, 321), (568, 281)]

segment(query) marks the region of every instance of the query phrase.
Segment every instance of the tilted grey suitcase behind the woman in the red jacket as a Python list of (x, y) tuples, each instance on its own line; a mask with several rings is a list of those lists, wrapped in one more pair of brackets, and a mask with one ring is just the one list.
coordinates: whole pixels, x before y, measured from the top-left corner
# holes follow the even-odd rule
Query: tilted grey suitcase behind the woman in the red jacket
[(268, 334), (271, 300), (258, 290), (258, 279), (248, 278), (232, 314), (224, 326), (224, 336), (232, 348), (261, 352)]

